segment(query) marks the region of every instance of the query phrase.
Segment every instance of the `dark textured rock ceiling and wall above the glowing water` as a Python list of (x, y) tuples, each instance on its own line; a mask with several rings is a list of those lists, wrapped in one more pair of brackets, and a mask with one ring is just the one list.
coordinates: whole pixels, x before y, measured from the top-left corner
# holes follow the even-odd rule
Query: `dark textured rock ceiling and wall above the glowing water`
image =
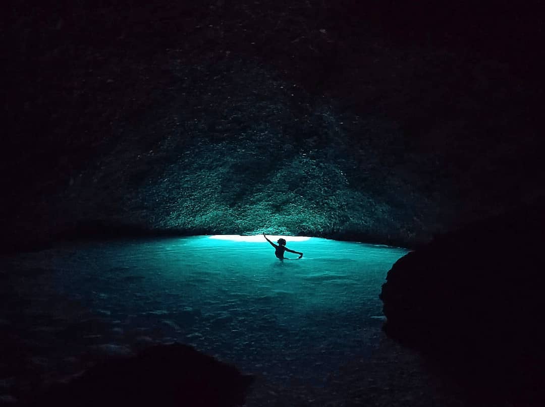
[(13, 5), (5, 242), (413, 245), (541, 199), (534, 2), (349, 3)]

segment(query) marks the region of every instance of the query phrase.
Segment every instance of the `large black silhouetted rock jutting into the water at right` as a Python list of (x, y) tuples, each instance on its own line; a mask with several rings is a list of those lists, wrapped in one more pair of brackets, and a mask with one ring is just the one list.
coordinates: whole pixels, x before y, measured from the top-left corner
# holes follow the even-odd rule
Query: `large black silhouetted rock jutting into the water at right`
[(525, 207), (437, 236), (399, 259), (380, 295), (387, 335), (468, 384), (538, 397), (545, 388), (544, 230), (542, 207)]

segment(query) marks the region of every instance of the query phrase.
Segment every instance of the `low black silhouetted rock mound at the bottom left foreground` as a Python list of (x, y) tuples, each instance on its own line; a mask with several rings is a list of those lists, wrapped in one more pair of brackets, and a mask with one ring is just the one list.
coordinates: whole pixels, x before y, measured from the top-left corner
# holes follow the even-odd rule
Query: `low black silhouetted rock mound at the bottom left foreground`
[(236, 406), (253, 376), (188, 345), (159, 345), (52, 386), (29, 406)]

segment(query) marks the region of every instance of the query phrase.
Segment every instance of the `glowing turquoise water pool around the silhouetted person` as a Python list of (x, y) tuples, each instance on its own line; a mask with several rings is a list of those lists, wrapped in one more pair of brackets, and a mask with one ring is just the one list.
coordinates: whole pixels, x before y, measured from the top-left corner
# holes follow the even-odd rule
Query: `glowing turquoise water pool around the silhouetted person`
[(49, 378), (75, 373), (96, 355), (179, 341), (244, 372), (320, 382), (377, 344), (380, 286), (407, 251), (287, 240), (302, 259), (280, 262), (262, 238), (209, 236), (20, 255), (2, 262), (0, 295), (8, 301), (0, 321), (26, 344), (23, 363), (34, 369), (41, 358)]

